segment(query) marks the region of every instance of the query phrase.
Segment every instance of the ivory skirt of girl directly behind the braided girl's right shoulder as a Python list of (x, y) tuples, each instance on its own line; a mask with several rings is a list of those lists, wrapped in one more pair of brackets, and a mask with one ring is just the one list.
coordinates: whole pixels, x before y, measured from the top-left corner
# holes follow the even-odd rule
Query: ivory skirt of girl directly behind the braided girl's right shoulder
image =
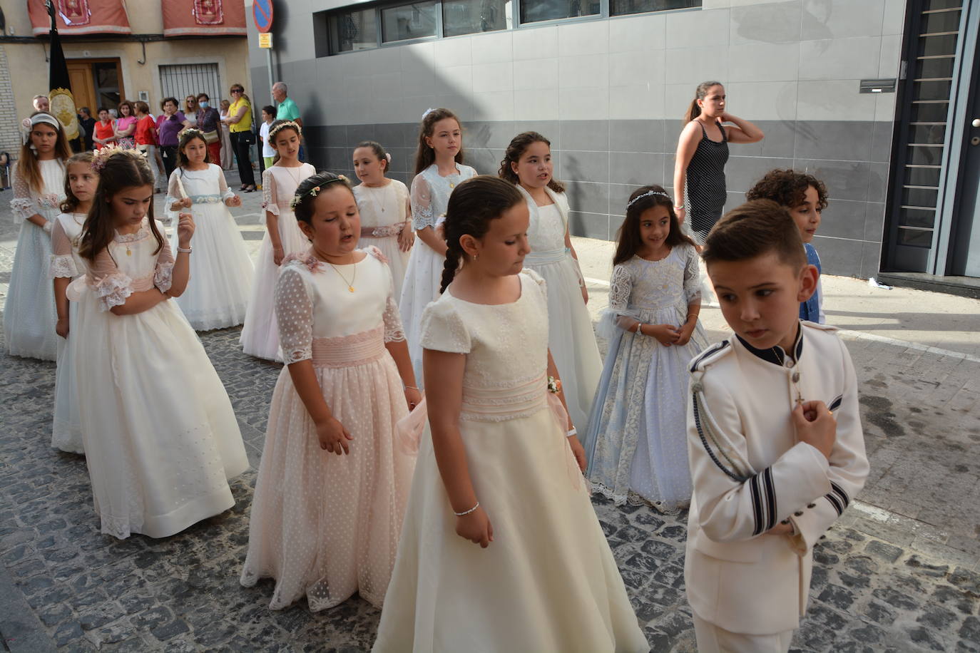
[(562, 260), (536, 263), (532, 253), (524, 259), (524, 267), (540, 274), (548, 284), (548, 349), (562, 377), (571, 422), (584, 429), (603, 372), (603, 359), (589, 309), (582, 302), (575, 261), (564, 255)]

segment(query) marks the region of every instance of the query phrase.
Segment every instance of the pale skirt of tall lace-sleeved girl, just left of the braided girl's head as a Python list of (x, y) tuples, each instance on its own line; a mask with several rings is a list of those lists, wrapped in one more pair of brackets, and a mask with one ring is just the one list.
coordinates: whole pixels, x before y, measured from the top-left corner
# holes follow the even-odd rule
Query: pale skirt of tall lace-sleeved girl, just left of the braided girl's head
[(421, 240), (417, 240), (412, 247), (409, 267), (405, 272), (405, 283), (402, 285), (402, 299), (398, 303), (419, 388), (422, 387), (425, 379), (422, 375), (422, 311), (429, 302), (434, 302), (439, 297), (439, 285), (442, 283), (445, 262), (446, 257), (439, 256), (435, 250)]

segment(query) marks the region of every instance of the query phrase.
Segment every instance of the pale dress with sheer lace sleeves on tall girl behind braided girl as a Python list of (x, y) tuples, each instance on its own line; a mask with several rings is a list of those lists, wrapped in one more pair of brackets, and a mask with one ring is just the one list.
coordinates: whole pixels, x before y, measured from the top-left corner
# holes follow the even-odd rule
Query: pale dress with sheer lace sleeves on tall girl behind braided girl
[[(444, 177), (439, 166), (432, 163), (412, 180), (412, 228), (420, 231), (425, 227), (438, 227), (446, 219), (446, 207), (453, 189), (476, 170), (462, 163), (456, 164), (457, 174)], [(409, 267), (402, 285), (402, 299), (398, 303), (402, 311), (405, 337), (409, 341), (409, 354), (416, 371), (418, 387), (424, 383), (422, 375), (422, 348), (419, 344), (419, 327), (422, 311), (429, 302), (439, 297), (442, 270), (446, 257), (440, 256), (421, 239), (412, 247)]]

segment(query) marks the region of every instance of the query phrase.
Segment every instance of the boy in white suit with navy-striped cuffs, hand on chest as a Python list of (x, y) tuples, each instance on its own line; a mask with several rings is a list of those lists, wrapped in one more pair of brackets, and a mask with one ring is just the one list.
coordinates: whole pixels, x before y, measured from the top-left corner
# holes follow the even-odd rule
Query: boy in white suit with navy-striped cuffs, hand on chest
[(813, 543), (867, 476), (857, 379), (835, 329), (799, 319), (817, 272), (785, 208), (730, 211), (702, 256), (735, 333), (690, 365), (684, 579), (698, 650), (787, 651)]

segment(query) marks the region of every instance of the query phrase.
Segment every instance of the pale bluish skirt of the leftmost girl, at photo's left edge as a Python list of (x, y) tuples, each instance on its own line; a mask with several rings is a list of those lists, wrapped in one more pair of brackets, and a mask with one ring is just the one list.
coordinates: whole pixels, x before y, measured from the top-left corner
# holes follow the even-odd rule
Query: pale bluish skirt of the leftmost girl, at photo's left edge
[[(53, 217), (52, 217), (53, 219)], [(14, 267), (3, 308), (7, 352), (14, 356), (55, 360), (58, 341), (54, 284), (48, 278), (51, 237), (25, 220), (17, 239)]]

